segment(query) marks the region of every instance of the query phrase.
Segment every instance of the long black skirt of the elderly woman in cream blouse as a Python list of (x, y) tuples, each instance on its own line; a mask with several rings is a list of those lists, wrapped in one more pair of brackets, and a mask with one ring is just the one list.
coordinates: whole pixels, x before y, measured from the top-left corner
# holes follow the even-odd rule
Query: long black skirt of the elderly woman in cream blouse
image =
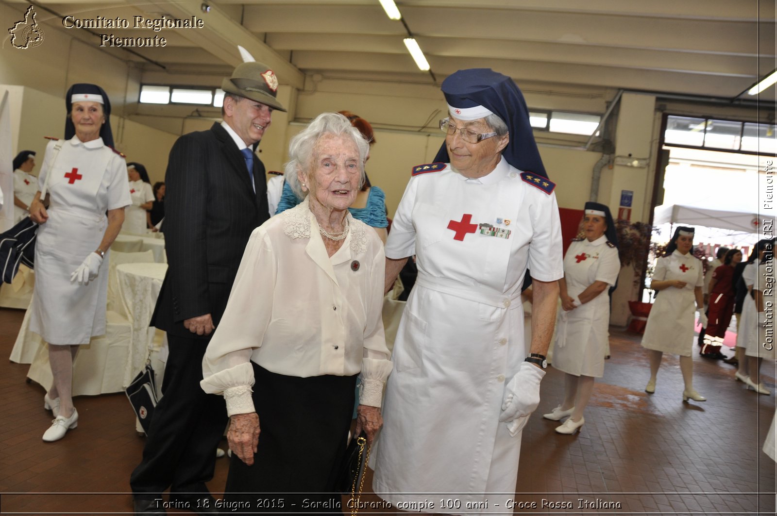
[(354, 410), (354, 376), (278, 375), (253, 365), (259, 444), (232, 454), (224, 512), (340, 513), (335, 492)]

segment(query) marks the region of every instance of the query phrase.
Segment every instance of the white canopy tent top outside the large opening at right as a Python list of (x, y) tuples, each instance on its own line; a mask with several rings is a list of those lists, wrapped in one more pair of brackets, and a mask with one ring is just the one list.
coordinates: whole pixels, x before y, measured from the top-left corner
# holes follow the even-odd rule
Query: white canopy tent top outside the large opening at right
[(653, 225), (679, 223), (756, 234), (761, 232), (767, 219), (753, 212), (713, 210), (685, 204), (662, 204), (653, 213)]

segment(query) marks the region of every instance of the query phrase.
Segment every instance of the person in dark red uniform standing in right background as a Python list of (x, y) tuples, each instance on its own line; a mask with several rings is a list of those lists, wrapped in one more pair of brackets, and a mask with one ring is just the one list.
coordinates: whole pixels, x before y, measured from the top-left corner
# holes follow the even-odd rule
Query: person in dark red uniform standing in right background
[(702, 357), (725, 358), (720, 353), (726, 328), (731, 323), (734, 303), (733, 271), (737, 263), (742, 261), (742, 252), (731, 249), (723, 258), (723, 265), (713, 271), (713, 279), (709, 282), (709, 323), (707, 324)]

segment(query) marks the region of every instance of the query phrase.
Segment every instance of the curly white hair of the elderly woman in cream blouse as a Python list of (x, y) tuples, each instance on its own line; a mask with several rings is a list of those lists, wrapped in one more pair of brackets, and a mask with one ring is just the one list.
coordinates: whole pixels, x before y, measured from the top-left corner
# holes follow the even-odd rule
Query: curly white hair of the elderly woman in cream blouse
[(304, 199), (308, 194), (302, 191), (297, 176), (298, 172), (306, 175), (311, 166), (313, 148), (325, 134), (334, 134), (335, 136), (350, 136), (359, 149), (359, 168), (361, 169), (361, 180), (359, 188), (364, 185), (364, 160), (367, 159), (370, 151), (370, 144), (359, 130), (352, 126), (346, 117), (340, 113), (321, 113), (312, 120), (308, 127), (305, 127), (301, 133), (296, 134), (289, 141), (289, 160), (284, 165), (284, 178), (299, 199)]

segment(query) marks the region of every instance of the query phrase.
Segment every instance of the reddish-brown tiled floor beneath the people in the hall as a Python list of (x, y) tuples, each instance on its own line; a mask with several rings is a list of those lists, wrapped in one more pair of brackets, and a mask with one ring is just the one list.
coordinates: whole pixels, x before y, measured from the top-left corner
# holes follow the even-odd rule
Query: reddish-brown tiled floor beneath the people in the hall
[[(22, 317), (0, 309), (4, 357)], [(540, 415), (563, 392), (563, 375), (550, 369), (524, 430), (517, 493), (490, 495), (487, 512), (504, 513), (512, 500), (514, 511), (525, 514), (775, 514), (775, 462), (761, 451), (775, 396), (745, 390), (732, 367), (698, 356), (695, 387), (709, 401), (682, 403), (677, 357), (664, 357), (656, 393), (647, 395), (639, 336), (611, 331), (612, 358), (580, 434), (556, 434), (557, 424)], [(0, 361), (0, 512), (130, 514), (128, 479), (143, 439), (127, 398), (77, 398), (78, 428), (47, 444), (40, 437), (51, 415), (43, 409), (44, 390), (25, 382), (27, 368)], [(762, 372), (774, 390), (775, 364)], [(212, 492), (223, 490), (226, 472), (227, 462), (219, 460)], [(387, 513), (369, 507), (378, 500), (365, 493), (361, 512)]]

